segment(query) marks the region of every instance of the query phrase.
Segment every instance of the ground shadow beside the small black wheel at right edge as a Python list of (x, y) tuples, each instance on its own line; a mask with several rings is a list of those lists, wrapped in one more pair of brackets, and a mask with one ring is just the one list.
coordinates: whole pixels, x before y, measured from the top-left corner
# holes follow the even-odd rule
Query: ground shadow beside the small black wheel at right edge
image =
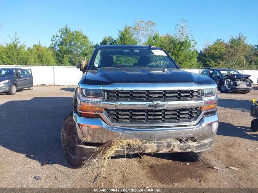
[[(251, 133), (249, 134), (247, 132)], [(254, 133), (250, 127), (234, 126), (231, 123), (220, 122), (217, 134), (258, 141), (258, 133)]]

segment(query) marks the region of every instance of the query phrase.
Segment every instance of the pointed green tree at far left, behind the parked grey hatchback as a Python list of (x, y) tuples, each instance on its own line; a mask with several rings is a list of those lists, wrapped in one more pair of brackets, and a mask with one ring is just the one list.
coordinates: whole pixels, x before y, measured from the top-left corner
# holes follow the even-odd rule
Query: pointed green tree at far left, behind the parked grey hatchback
[(0, 63), (2, 64), (25, 64), (26, 63), (26, 45), (21, 44), (20, 38), (15, 32), (13, 37), (10, 37), (11, 42), (6, 43), (6, 46), (0, 47)]

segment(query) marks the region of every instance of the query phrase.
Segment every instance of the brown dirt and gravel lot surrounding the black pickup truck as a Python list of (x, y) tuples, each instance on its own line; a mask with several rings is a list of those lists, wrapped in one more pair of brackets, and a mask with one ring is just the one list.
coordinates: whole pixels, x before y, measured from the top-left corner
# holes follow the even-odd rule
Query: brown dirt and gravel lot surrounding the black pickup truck
[[(101, 164), (73, 169), (60, 130), (72, 109), (74, 87), (35, 87), (0, 94), (0, 187), (89, 187)], [(186, 165), (179, 153), (111, 159), (106, 178), (91, 187), (258, 187), (258, 134), (250, 130), (250, 94), (219, 94), (220, 124), (211, 152)], [(258, 99), (258, 97), (257, 97)], [(51, 159), (53, 165), (42, 164)], [(210, 167), (240, 170), (218, 171)], [(42, 177), (35, 180), (35, 176)]]

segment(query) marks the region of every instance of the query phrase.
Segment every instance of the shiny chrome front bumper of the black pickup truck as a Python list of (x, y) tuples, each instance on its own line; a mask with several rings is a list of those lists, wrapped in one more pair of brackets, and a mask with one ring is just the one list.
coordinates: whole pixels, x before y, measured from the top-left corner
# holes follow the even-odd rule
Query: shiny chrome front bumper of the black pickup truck
[[(165, 126), (165, 127), (118, 127), (109, 126), (102, 119), (84, 118), (73, 113), (75, 131), (78, 138), (83, 140), (83, 126), (88, 126), (88, 138), (84, 141), (91, 143), (107, 143), (114, 138), (139, 139), (139, 140), (165, 140), (194, 138), (203, 141), (214, 137), (212, 125), (218, 122), (217, 113), (212, 116), (202, 117), (196, 125)], [(218, 125), (218, 124), (217, 124)], [(216, 128), (217, 129), (217, 128)]]

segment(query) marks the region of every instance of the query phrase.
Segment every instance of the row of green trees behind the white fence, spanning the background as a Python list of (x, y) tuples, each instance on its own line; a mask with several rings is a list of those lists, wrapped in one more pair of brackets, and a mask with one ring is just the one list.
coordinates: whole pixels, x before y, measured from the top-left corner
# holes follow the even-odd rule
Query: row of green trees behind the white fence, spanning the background
[(17, 33), (11, 41), (0, 45), (1, 65), (75, 66), (80, 58), (89, 61), (98, 45), (149, 45), (165, 49), (180, 68), (234, 68), (258, 69), (258, 45), (247, 43), (247, 37), (239, 33), (225, 42), (217, 39), (196, 49), (187, 21), (177, 24), (173, 34), (160, 35), (154, 21), (136, 20), (133, 26), (118, 30), (117, 38), (105, 36), (99, 44), (93, 44), (82, 30), (71, 30), (67, 25), (51, 38), (49, 47), (40, 41), (26, 48)]

